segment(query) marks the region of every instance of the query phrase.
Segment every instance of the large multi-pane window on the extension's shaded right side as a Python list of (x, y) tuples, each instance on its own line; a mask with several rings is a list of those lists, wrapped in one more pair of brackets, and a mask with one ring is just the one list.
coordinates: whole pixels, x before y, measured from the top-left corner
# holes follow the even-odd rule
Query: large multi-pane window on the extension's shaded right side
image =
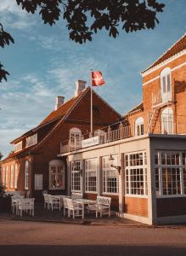
[(157, 196), (186, 194), (186, 152), (155, 152), (155, 184)]

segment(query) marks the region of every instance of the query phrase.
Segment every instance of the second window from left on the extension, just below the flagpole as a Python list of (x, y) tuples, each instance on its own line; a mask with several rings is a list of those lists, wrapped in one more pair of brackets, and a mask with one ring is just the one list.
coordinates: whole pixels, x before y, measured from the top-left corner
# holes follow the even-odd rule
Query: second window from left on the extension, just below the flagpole
[(97, 159), (85, 160), (85, 190), (96, 192), (97, 184)]

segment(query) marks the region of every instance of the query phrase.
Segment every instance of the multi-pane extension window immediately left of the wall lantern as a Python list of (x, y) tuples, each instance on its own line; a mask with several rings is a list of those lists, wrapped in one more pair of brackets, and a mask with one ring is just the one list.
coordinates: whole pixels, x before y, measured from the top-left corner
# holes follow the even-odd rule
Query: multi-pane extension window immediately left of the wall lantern
[[(118, 171), (110, 167), (109, 163), (110, 156), (103, 157), (103, 192), (105, 194), (118, 194), (118, 183), (119, 183), (119, 174)], [(114, 166), (117, 166), (117, 157), (113, 155)]]

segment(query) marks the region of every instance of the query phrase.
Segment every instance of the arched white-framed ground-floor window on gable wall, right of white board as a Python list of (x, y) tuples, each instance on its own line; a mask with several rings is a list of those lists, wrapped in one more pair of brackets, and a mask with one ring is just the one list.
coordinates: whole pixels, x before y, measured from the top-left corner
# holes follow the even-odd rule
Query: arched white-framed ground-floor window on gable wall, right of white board
[[(55, 172), (52, 170), (54, 167)], [(60, 170), (60, 174), (59, 171)], [(62, 179), (62, 184), (59, 187), (52, 186), (52, 176), (55, 176), (55, 181), (59, 179), (59, 176)], [(51, 160), (49, 162), (49, 189), (50, 190), (61, 190), (65, 189), (65, 164), (62, 160)]]

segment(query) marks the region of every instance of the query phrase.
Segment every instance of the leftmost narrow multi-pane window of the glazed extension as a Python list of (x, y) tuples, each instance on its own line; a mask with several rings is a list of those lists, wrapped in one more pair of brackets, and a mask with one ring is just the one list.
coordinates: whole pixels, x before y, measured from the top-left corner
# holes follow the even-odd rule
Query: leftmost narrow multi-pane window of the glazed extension
[(71, 163), (71, 190), (81, 191), (81, 171), (82, 171), (82, 161), (74, 161)]

